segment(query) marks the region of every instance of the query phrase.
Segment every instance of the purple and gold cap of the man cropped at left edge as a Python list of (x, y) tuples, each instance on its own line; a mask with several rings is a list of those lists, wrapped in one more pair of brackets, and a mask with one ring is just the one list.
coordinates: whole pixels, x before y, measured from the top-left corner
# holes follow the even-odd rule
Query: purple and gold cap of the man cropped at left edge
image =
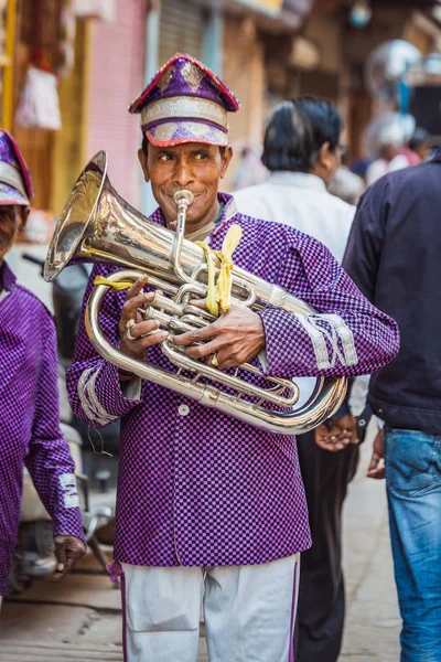
[(0, 129), (0, 205), (29, 205), (34, 195), (31, 175), (14, 138)]

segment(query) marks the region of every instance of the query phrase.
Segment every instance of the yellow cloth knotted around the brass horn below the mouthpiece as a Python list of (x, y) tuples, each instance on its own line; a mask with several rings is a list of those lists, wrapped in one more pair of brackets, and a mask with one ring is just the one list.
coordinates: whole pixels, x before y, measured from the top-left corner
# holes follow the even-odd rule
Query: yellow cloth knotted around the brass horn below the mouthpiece
[[(204, 242), (195, 242), (196, 246), (204, 249), (207, 263), (207, 296), (206, 308), (208, 312), (218, 317), (220, 313), (229, 310), (232, 306), (232, 269), (233, 253), (236, 250), (241, 239), (240, 225), (232, 225), (225, 235), (222, 250), (212, 250)], [(219, 275), (215, 281), (214, 256), (220, 260)]]

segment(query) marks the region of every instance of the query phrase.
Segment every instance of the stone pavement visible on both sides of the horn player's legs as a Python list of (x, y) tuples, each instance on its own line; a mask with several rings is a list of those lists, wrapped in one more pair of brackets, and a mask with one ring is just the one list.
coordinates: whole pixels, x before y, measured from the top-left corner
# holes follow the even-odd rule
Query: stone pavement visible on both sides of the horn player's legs
[[(384, 482), (364, 478), (370, 444), (345, 510), (347, 621), (342, 662), (397, 662), (396, 601)], [(82, 573), (63, 584), (39, 583), (7, 602), (0, 619), (0, 662), (122, 662), (119, 591), (103, 576)], [(207, 662), (201, 639), (200, 662)], [(176, 661), (179, 662), (179, 661)]]

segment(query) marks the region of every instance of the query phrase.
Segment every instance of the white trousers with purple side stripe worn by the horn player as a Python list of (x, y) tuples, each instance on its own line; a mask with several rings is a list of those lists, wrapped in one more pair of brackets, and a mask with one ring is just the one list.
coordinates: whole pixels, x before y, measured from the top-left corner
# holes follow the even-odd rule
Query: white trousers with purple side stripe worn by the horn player
[(292, 662), (299, 554), (255, 566), (122, 565), (126, 662)]

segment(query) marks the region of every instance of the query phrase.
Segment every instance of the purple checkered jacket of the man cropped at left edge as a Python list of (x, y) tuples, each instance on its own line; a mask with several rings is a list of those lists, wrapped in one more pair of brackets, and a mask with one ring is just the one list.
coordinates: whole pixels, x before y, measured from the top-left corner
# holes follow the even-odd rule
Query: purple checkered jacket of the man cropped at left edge
[(74, 462), (60, 429), (56, 335), (34, 295), (0, 268), (0, 596), (15, 546), (28, 468), (54, 535), (84, 540)]

